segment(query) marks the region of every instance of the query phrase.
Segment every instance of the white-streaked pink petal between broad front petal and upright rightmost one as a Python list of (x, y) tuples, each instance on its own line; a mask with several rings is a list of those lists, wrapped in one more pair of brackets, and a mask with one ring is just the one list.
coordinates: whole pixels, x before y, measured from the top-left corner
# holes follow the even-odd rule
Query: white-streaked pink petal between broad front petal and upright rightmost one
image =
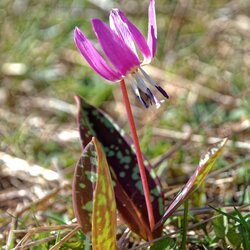
[(151, 60), (151, 52), (144, 36), (137, 27), (118, 9), (113, 9), (111, 11), (110, 20), (112, 20), (112, 25), (114, 25), (117, 34), (123, 37), (125, 43), (129, 47), (131, 47), (130, 44), (134, 46), (132, 39), (135, 41), (144, 56), (144, 60), (149, 63)]

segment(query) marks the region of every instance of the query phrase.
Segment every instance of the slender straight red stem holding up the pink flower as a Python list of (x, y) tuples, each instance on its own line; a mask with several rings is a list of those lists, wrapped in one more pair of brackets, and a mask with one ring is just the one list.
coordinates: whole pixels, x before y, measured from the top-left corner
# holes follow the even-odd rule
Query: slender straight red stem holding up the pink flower
[(127, 115), (128, 115), (128, 122), (129, 122), (130, 130), (131, 130), (132, 138), (133, 138), (134, 145), (135, 145), (135, 153), (136, 153), (136, 158), (137, 158), (137, 162), (138, 162), (138, 166), (140, 170), (142, 187), (144, 190), (144, 195), (145, 195), (145, 200), (146, 200), (150, 229), (151, 231), (153, 231), (155, 220), (154, 220), (153, 208), (152, 208), (152, 203), (150, 199), (150, 192), (149, 192), (149, 187), (148, 187), (146, 171), (145, 171), (145, 167), (143, 163), (143, 158), (141, 154), (140, 144), (138, 141), (136, 128), (135, 128), (135, 122), (134, 122), (131, 105), (130, 105), (129, 98), (128, 98), (128, 92), (127, 92), (124, 80), (120, 81), (120, 85), (121, 85), (122, 96), (123, 96), (123, 100), (124, 100)]

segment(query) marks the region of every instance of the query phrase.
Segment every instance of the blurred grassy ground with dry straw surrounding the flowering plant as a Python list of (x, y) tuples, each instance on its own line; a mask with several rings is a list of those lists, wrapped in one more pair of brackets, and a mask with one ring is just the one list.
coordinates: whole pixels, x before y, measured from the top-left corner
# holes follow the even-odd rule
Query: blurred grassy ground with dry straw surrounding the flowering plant
[[(81, 155), (74, 96), (105, 110), (127, 133), (129, 127), (119, 85), (105, 82), (88, 67), (74, 45), (73, 29), (78, 26), (97, 44), (89, 20), (108, 22), (109, 9), (120, 7), (146, 34), (147, 5), (1, 1), (3, 249), (52, 249), (74, 232), (71, 181)], [(249, 220), (250, 3), (157, 0), (156, 11), (158, 48), (145, 70), (170, 99), (159, 109), (145, 110), (128, 84), (142, 151), (155, 166), (168, 203), (191, 176), (200, 155), (220, 138), (229, 138), (189, 201), (187, 249), (237, 249), (235, 221), (226, 216), (213, 220), (216, 214), (208, 205), (226, 213), (236, 206)], [(182, 214), (180, 209), (164, 229), (178, 244)], [(118, 237), (124, 230), (121, 225)], [(129, 237), (130, 249), (143, 243), (135, 235)], [(61, 249), (87, 249), (83, 239), (78, 232)]]

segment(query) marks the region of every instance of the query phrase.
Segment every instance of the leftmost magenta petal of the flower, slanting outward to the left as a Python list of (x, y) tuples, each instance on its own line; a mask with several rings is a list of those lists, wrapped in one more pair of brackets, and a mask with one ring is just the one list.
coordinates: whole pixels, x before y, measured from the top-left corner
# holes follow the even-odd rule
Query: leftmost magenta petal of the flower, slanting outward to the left
[(103, 78), (109, 81), (117, 81), (121, 78), (121, 74), (111, 69), (99, 52), (95, 49), (92, 43), (86, 36), (75, 28), (74, 30), (75, 43), (88, 64)]

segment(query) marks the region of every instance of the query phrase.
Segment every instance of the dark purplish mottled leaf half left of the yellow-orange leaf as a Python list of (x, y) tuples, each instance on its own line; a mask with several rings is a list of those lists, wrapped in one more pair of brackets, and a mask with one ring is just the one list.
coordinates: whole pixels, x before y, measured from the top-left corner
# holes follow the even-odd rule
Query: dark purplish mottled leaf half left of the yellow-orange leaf
[(84, 234), (92, 231), (93, 193), (97, 179), (97, 153), (92, 141), (83, 150), (72, 184), (72, 201), (75, 216)]

